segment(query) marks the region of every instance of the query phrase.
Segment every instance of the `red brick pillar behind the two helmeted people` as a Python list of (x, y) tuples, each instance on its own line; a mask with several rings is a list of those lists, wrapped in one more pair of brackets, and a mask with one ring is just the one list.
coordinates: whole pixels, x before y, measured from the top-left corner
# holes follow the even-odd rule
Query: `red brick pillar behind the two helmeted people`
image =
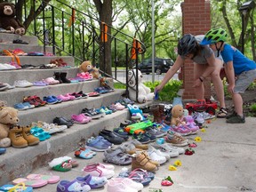
[[(182, 33), (204, 35), (211, 28), (211, 7), (209, 0), (184, 0), (181, 4), (182, 11)], [(183, 75), (183, 100), (196, 99), (195, 91), (192, 88), (194, 84), (194, 64), (186, 60), (182, 68)], [(204, 97), (210, 99), (211, 84), (210, 79), (204, 81)]]

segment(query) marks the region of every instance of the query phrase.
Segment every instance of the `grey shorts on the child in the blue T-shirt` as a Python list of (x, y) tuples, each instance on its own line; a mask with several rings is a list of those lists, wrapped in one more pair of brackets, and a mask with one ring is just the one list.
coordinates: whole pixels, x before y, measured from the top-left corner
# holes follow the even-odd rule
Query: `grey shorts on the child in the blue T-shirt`
[(244, 93), (250, 84), (256, 79), (256, 69), (244, 71), (239, 76), (236, 76), (236, 84), (234, 92)]

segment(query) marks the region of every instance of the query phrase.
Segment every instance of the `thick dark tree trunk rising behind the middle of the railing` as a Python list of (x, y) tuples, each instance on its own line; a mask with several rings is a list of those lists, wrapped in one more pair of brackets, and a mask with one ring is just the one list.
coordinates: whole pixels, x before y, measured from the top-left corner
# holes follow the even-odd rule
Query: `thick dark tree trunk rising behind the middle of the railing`
[[(103, 3), (101, 3), (100, 0), (93, 0), (97, 11), (100, 15), (100, 21), (104, 22), (108, 25), (108, 40), (106, 42), (103, 42), (100, 36), (100, 70), (104, 71), (108, 75), (112, 76), (112, 70), (111, 70), (111, 28), (112, 27), (112, 0), (103, 0)], [(102, 28), (103, 25), (100, 23), (100, 31), (104, 31), (104, 28)]]

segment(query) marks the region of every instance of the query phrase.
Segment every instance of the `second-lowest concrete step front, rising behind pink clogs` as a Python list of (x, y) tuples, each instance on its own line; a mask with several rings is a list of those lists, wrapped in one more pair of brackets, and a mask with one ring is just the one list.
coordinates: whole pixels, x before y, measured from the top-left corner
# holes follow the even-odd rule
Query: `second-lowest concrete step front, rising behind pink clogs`
[(39, 120), (52, 123), (53, 118), (56, 116), (66, 116), (70, 119), (73, 114), (80, 114), (83, 108), (100, 108), (101, 106), (108, 106), (116, 100), (120, 100), (123, 93), (124, 90), (116, 90), (115, 92), (108, 92), (98, 97), (68, 100), (54, 105), (46, 104), (44, 107), (19, 111), (19, 124), (28, 125)]

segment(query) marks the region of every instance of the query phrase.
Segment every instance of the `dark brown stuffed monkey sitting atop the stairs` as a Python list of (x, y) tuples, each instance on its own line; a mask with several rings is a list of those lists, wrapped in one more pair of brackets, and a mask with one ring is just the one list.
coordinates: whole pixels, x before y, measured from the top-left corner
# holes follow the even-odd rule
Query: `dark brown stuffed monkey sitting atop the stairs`
[(0, 28), (11, 30), (12, 33), (24, 35), (26, 30), (20, 20), (16, 19), (15, 5), (4, 2), (0, 4)]

